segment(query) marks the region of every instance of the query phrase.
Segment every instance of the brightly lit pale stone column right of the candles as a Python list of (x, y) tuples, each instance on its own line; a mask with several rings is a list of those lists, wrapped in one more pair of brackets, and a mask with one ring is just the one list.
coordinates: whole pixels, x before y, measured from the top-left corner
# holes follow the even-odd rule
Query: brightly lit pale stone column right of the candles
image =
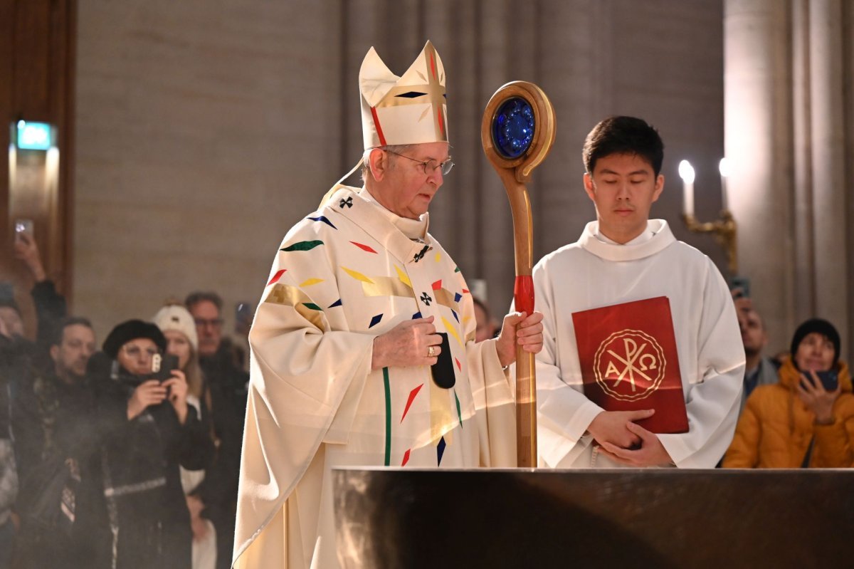
[(751, 279), (771, 349), (793, 326), (790, 3), (724, 4), (724, 147), (729, 203), (739, 224), (739, 272)]

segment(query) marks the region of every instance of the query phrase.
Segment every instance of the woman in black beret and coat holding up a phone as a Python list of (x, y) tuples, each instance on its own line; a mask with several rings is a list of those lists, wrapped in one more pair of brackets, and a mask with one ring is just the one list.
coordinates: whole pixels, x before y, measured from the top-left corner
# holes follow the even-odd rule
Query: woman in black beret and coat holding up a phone
[(213, 441), (187, 405), (184, 374), (152, 376), (152, 361), (166, 345), (154, 324), (128, 320), (104, 341), (106, 359), (92, 356), (108, 546), (119, 568), (190, 566), (190, 513), (178, 465), (200, 470), (213, 460)]

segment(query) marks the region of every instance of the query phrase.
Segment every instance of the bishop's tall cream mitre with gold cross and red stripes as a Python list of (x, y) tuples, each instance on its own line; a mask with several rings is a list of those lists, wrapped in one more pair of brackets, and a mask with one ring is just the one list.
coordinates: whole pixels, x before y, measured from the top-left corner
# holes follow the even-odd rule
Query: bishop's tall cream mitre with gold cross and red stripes
[(397, 77), (377, 51), (368, 50), (359, 72), (365, 149), (447, 142), (445, 67), (429, 41)]

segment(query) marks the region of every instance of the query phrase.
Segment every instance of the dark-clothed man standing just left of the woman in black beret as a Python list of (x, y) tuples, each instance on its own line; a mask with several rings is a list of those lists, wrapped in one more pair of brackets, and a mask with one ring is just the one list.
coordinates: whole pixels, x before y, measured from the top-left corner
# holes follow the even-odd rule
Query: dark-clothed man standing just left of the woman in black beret
[(95, 393), (85, 375), (95, 332), (89, 320), (77, 317), (62, 320), (56, 330), (50, 342), (54, 366), (30, 367), (13, 398), (21, 481), (14, 564), (19, 569), (99, 566), (90, 544), (109, 539), (100, 433), (92, 420)]

